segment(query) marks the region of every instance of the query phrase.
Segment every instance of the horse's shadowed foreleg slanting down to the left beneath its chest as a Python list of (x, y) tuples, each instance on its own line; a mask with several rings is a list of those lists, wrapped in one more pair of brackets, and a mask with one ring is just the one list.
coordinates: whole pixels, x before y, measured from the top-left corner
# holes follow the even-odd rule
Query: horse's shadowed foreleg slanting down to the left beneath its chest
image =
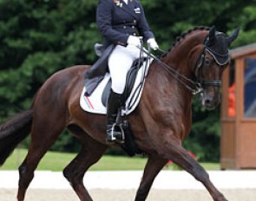
[(154, 156), (148, 157), (147, 165), (145, 166), (141, 185), (137, 191), (135, 201), (143, 201), (148, 197), (148, 192), (154, 182), (154, 178), (161, 171), (162, 167), (167, 164), (167, 159), (159, 159)]

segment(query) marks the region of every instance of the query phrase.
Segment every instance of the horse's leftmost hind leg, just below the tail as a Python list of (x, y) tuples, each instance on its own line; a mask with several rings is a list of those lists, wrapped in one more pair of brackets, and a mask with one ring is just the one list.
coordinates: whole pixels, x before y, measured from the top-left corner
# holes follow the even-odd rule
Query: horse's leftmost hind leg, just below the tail
[(36, 166), (43, 158), (45, 152), (56, 141), (63, 127), (64, 123), (61, 122), (61, 119), (55, 121), (54, 118), (43, 119), (34, 115), (29, 152), (23, 164), (19, 167), (18, 201), (24, 199), (30, 182), (34, 178)]

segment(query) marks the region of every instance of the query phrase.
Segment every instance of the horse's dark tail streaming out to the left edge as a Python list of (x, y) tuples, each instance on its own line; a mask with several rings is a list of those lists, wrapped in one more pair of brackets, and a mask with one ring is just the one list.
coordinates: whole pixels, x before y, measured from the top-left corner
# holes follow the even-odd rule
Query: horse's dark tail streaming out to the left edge
[(0, 166), (15, 147), (30, 134), (32, 110), (16, 114), (0, 126)]

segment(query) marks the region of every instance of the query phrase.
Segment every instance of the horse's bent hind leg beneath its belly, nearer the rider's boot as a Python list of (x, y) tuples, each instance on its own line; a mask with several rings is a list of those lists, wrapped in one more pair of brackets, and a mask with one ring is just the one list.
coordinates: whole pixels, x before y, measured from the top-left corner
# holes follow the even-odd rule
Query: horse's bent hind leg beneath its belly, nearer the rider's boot
[[(77, 134), (77, 132), (75, 133)], [(102, 154), (106, 151), (107, 146), (98, 143), (95, 139), (91, 139), (86, 133), (82, 133), (80, 136), (82, 137), (82, 139), (80, 138), (82, 149), (64, 169), (63, 174), (69, 180), (70, 185), (80, 200), (92, 201), (89, 192), (83, 185), (82, 178), (89, 167), (102, 158)]]

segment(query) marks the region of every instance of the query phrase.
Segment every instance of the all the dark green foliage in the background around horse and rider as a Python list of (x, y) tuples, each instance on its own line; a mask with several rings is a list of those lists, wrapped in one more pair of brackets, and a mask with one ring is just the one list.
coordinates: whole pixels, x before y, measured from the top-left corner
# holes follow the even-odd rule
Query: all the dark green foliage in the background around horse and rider
[[(196, 25), (231, 33), (233, 47), (255, 42), (255, 0), (141, 0), (161, 49)], [(93, 45), (102, 42), (95, 24), (95, 0), (0, 0), (0, 122), (30, 107), (43, 82), (57, 70), (95, 62)], [(184, 146), (200, 160), (216, 161), (220, 151), (220, 109), (205, 111), (193, 103), (193, 128)], [(25, 143), (26, 145), (26, 143)], [(52, 150), (79, 148), (67, 132)], [(121, 154), (111, 150), (111, 154)]]

